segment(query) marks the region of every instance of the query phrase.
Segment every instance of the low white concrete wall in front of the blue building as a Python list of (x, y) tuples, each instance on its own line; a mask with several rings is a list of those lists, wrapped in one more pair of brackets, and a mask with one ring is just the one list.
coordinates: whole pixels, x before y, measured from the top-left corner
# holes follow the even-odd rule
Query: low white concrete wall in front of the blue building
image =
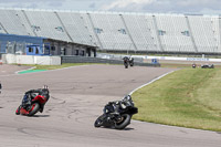
[(61, 56), (2, 54), (2, 62), (4, 64), (61, 65)]

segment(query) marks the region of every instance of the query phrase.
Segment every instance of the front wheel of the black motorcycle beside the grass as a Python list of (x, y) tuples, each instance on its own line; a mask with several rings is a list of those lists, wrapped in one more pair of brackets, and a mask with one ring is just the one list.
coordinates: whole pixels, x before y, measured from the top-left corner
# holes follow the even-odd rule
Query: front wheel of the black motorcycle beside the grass
[(131, 116), (128, 114), (122, 115), (122, 120), (115, 124), (116, 129), (124, 129), (126, 126), (130, 124)]

